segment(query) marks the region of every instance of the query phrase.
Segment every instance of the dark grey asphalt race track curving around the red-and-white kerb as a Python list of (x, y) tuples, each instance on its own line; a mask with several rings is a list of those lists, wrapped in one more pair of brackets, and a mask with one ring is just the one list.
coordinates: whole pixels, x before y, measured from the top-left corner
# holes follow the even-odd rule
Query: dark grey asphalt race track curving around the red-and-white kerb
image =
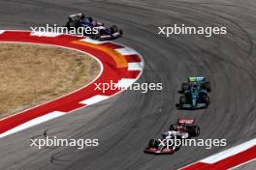
[[(143, 153), (179, 117), (196, 119), (201, 136), (226, 138), (227, 148), (256, 137), (256, 2), (253, 0), (8, 0), (0, 1), (0, 29), (63, 25), (84, 12), (124, 30), (117, 40), (145, 61), (140, 82), (163, 82), (163, 91), (127, 91), (75, 113), (0, 140), (0, 169), (170, 170), (224, 148), (183, 147), (173, 156)], [(224, 36), (157, 36), (157, 26), (185, 23), (223, 25)], [(212, 84), (208, 109), (177, 110), (180, 84), (187, 76), (207, 76)], [(100, 146), (38, 150), (30, 138), (98, 138)], [(226, 148), (225, 148), (226, 149)]]

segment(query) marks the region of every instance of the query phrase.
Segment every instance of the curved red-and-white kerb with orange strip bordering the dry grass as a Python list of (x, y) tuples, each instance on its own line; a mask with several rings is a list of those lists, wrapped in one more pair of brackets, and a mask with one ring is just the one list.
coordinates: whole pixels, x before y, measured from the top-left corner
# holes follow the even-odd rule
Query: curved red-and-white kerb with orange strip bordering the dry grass
[[(113, 42), (97, 42), (77, 36), (7, 30), (1, 31), (0, 42), (47, 44), (78, 50), (97, 59), (101, 66), (100, 74), (83, 88), (1, 119), (0, 138), (63, 116), (80, 107), (108, 99), (121, 92), (121, 88), (131, 86), (140, 77), (144, 67), (139, 53)], [(120, 88), (105, 90), (95, 85), (111, 84), (111, 82)]]

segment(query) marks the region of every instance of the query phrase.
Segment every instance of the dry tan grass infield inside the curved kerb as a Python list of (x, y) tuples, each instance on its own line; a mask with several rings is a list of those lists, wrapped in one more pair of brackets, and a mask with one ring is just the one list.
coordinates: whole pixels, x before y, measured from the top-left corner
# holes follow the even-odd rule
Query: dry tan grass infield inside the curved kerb
[(74, 50), (0, 43), (0, 118), (68, 94), (99, 71), (97, 61)]

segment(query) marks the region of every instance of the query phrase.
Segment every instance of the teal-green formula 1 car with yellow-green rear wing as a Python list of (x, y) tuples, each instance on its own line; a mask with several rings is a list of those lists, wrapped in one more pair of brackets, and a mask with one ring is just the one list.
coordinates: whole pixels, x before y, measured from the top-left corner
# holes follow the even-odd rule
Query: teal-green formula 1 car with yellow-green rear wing
[(179, 98), (179, 108), (197, 109), (207, 108), (209, 104), (208, 93), (210, 84), (206, 77), (188, 77), (188, 83), (182, 83)]

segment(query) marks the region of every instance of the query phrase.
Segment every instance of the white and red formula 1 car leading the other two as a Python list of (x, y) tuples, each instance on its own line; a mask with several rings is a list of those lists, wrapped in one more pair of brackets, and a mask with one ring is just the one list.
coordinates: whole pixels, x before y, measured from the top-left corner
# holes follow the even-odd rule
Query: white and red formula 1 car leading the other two
[(200, 134), (200, 128), (194, 125), (193, 119), (178, 119), (176, 125), (171, 125), (169, 130), (162, 134), (162, 139), (150, 139), (148, 146), (144, 149), (147, 154), (174, 154), (181, 145), (171, 142), (176, 139), (188, 139), (197, 137)]

